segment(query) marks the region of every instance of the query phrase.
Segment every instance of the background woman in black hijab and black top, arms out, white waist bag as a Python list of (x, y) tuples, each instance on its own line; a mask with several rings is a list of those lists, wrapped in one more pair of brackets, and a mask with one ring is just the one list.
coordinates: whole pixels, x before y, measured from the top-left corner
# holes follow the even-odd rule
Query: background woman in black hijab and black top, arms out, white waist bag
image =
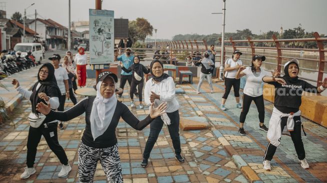
[(122, 70), (125, 72), (132, 72), (132, 82), (131, 82), (131, 88), (129, 91), (130, 97), (131, 97), (131, 107), (135, 107), (134, 104), (134, 93), (137, 91), (136, 86), (138, 86), (139, 91), (139, 101), (140, 101), (140, 108), (143, 108), (142, 104), (142, 91), (143, 91), (143, 85), (144, 85), (144, 74), (143, 73), (149, 73), (150, 69), (146, 68), (144, 65), (140, 63), (140, 57), (134, 56), (134, 63), (129, 67), (125, 68), (124, 64), (121, 63)]

